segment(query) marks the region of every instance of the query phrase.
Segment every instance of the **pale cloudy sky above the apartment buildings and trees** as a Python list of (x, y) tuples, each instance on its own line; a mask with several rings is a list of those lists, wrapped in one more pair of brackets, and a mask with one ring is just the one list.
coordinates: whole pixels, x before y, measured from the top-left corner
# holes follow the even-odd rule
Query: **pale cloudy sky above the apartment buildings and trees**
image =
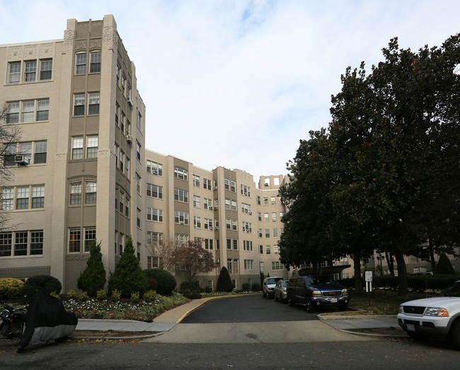
[(207, 170), (286, 174), (300, 139), (327, 127), (347, 66), (391, 37), (439, 46), (458, 0), (0, 0), (0, 44), (64, 37), (67, 19), (113, 14), (146, 105), (146, 148)]

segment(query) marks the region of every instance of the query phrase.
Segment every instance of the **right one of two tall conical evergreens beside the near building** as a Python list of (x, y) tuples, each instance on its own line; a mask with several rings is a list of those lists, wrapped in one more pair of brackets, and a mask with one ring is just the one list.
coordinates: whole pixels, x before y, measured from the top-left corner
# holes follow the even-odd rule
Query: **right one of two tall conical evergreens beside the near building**
[(115, 272), (110, 273), (108, 281), (108, 290), (117, 289), (124, 297), (131, 296), (133, 291), (139, 291), (139, 294), (144, 294), (149, 288), (147, 277), (142, 271), (139, 260), (134, 255), (131, 236), (125, 243), (125, 250), (115, 265)]

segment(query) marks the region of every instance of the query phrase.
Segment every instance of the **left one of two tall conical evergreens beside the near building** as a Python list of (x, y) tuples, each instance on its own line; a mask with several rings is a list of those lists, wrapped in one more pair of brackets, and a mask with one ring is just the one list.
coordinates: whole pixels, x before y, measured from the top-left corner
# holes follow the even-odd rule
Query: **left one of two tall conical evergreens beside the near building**
[(81, 291), (87, 291), (88, 296), (96, 296), (97, 291), (104, 288), (105, 268), (100, 253), (100, 243), (91, 242), (90, 256), (86, 261), (86, 269), (80, 273), (77, 286)]

